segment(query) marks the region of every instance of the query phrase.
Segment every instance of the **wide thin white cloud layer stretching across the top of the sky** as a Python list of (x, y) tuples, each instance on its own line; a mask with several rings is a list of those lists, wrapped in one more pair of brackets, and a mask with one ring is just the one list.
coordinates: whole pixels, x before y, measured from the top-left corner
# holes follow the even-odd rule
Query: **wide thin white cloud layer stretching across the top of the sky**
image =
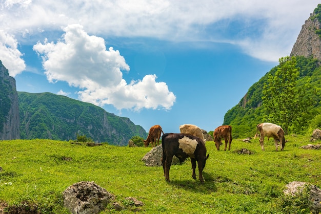
[[(317, 7), (306, 0), (6, 0), (0, 5), (0, 26), (16, 36), (79, 23), (106, 37), (229, 42), (268, 61), (289, 55), (300, 26)], [(235, 21), (242, 24), (237, 32)]]

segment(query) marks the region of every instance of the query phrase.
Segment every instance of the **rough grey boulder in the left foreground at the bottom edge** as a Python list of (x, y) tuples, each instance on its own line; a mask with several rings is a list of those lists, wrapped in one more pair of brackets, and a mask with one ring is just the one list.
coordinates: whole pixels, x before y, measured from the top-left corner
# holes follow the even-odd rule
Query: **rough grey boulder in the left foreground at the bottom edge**
[(63, 192), (64, 206), (71, 213), (89, 214), (103, 210), (115, 196), (93, 181), (81, 181)]

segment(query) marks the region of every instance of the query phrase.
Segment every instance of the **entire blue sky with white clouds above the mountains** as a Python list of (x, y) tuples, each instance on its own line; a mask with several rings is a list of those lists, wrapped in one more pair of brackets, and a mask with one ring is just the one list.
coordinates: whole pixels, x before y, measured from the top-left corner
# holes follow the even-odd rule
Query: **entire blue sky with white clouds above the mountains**
[(147, 132), (209, 132), (290, 55), (317, 4), (5, 0), (0, 60), (17, 91), (91, 102)]

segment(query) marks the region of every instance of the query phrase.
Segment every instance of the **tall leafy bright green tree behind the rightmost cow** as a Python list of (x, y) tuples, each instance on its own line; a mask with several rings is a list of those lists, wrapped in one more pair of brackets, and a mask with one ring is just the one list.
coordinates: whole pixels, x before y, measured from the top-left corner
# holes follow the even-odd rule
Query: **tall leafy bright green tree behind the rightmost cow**
[(267, 112), (264, 119), (282, 126), (286, 134), (290, 127), (302, 130), (310, 116), (312, 99), (305, 92), (311, 87), (308, 80), (299, 87), (298, 78), (296, 58), (282, 57), (275, 74), (269, 74), (262, 91), (263, 106)]

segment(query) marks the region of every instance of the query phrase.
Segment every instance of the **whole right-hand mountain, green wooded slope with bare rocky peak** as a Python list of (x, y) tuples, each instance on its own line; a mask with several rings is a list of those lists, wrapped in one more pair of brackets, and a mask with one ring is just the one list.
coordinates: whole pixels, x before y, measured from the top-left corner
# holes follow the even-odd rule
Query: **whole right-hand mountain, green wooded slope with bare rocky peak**
[[(313, 90), (321, 88), (321, 4), (314, 9), (313, 13), (302, 26), (297, 40), (292, 48), (290, 57), (294, 56), (297, 60), (297, 67), (300, 75), (297, 80), (298, 85), (309, 81)], [(230, 109), (224, 116), (223, 124), (229, 124), (233, 127), (233, 138), (253, 137), (256, 133), (256, 125), (263, 121), (266, 114), (262, 106), (262, 90), (264, 83), (267, 83), (268, 75), (274, 74), (277, 67), (272, 68), (265, 76), (254, 83), (245, 94), (245, 96)], [(309, 80), (308, 80), (309, 79)], [(321, 126), (321, 94), (316, 95), (312, 91), (308, 94), (313, 96), (315, 105), (310, 122), (310, 126), (302, 127), (305, 132), (311, 131), (313, 125)]]

